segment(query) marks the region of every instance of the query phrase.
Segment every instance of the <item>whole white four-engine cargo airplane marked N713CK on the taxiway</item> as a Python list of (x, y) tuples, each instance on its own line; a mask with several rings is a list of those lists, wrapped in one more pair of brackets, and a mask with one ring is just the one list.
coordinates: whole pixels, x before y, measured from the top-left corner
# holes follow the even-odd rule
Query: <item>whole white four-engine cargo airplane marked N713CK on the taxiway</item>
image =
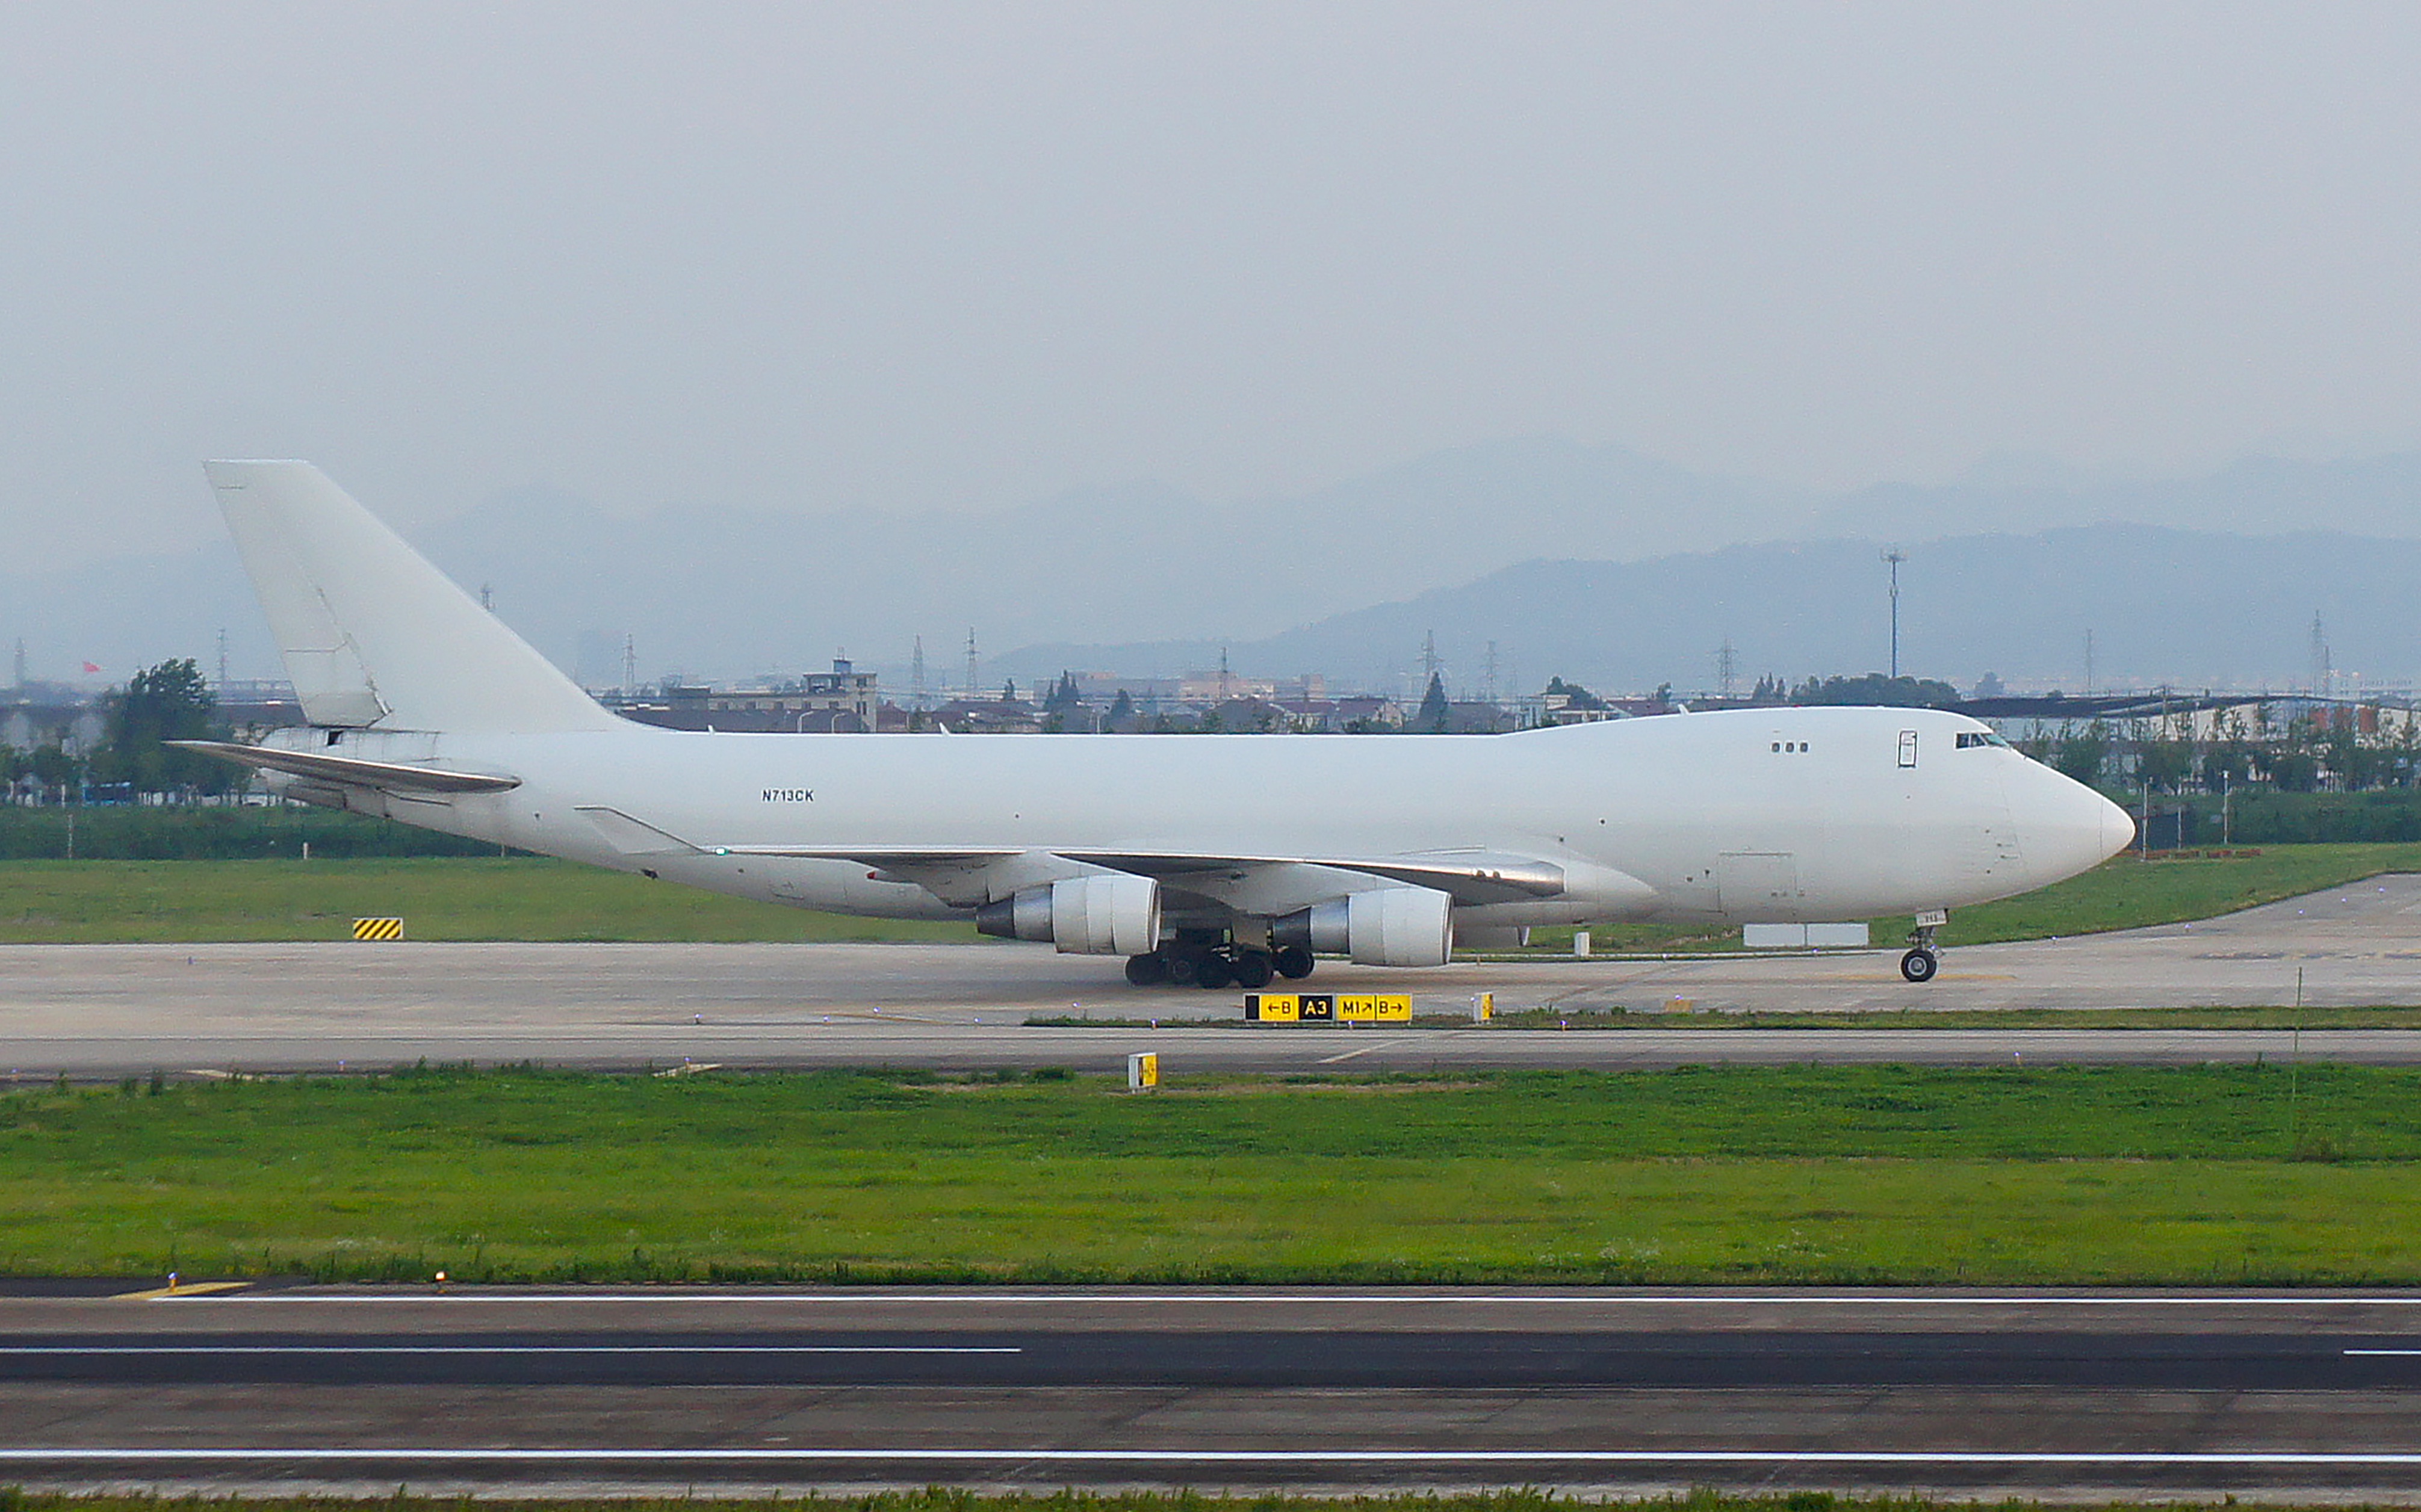
[(1973, 719), (1743, 709), (1516, 735), (741, 735), (596, 704), (307, 462), (211, 462), (310, 728), (194, 743), (305, 803), (741, 898), (973, 919), (1261, 987), (1532, 924), (1842, 922), (2055, 883), (2126, 810)]

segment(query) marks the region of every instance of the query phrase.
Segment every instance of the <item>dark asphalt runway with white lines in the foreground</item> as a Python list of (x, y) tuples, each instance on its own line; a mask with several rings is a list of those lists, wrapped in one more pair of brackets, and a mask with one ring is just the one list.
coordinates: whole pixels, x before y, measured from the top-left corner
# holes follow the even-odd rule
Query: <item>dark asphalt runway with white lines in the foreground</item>
[(0, 1297), (0, 1478), (2411, 1495), (2421, 1294)]

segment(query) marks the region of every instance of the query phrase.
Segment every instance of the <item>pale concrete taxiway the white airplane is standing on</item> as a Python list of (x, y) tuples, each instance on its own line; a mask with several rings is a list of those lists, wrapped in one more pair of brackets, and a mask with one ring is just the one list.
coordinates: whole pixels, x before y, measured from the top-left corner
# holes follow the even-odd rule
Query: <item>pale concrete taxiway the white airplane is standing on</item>
[[(1927, 987), (1888, 951), (1702, 960), (1322, 963), (1339, 992), (1516, 1009), (2087, 1009), (2421, 1004), (2421, 878), (2373, 878), (2225, 919), (1954, 951)], [(1235, 992), (1133, 989), (1116, 960), (1036, 946), (278, 943), (0, 946), (0, 1074), (293, 1072), (431, 1062), (583, 1067), (1206, 1072), (1656, 1067), (1704, 1060), (2152, 1064), (2322, 1055), (2421, 1064), (2421, 1033), (1390, 1031), (1169, 1028), (1237, 1018)], [(1024, 1028), (1029, 1016), (1160, 1031)]]

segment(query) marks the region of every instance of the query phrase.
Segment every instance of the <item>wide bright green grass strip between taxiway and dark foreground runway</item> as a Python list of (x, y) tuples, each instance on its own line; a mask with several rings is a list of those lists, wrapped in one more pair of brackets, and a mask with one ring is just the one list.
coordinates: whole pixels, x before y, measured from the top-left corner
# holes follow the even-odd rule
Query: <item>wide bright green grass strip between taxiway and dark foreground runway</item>
[(363, 1079), (0, 1098), (0, 1272), (2416, 1285), (2421, 1072)]

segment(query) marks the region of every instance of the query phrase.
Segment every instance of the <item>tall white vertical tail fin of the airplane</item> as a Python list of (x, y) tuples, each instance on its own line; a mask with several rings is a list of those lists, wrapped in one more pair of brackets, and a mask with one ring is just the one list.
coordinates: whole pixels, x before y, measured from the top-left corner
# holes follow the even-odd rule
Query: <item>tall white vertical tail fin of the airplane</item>
[(310, 462), (203, 462), (203, 472), (312, 723), (620, 728)]

